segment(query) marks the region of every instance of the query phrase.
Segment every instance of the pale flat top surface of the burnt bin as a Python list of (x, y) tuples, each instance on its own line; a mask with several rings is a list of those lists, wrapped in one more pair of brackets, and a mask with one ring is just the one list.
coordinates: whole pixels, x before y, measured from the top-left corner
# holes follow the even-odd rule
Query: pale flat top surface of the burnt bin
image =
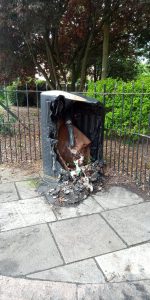
[(68, 93), (65, 91), (59, 91), (59, 90), (52, 90), (52, 91), (46, 91), (42, 92), (43, 96), (50, 96), (50, 97), (58, 97), (58, 96), (64, 96), (68, 100), (73, 101), (81, 101), (81, 102), (87, 102), (87, 103), (97, 103), (99, 102), (97, 99), (90, 98), (87, 96), (83, 96), (82, 93)]

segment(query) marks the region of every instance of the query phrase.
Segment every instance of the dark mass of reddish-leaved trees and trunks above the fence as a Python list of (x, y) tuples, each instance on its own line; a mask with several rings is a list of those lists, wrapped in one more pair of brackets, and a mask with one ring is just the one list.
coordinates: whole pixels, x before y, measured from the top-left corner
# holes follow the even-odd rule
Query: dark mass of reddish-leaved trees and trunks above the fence
[(83, 90), (89, 70), (105, 78), (115, 57), (146, 49), (148, 13), (135, 0), (0, 0), (1, 76), (38, 70), (51, 89), (70, 78)]

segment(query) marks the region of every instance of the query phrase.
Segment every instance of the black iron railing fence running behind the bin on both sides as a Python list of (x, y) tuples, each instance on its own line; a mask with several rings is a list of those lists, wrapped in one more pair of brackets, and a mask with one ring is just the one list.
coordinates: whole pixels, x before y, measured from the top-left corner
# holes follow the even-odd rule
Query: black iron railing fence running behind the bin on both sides
[[(45, 86), (45, 90), (48, 87)], [(69, 85), (63, 89), (70, 91)], [(24, 90), (0, 88), (0, 164), (39, 160), (41, 154), (40, 93), (26, 84)], [(76, 93), (78, 86), (76, 85)], [(104, 160), (107, 167), (127, 174), (150, 188), (150, 93), (133, 90), (91, 91), (106, 108)]]

